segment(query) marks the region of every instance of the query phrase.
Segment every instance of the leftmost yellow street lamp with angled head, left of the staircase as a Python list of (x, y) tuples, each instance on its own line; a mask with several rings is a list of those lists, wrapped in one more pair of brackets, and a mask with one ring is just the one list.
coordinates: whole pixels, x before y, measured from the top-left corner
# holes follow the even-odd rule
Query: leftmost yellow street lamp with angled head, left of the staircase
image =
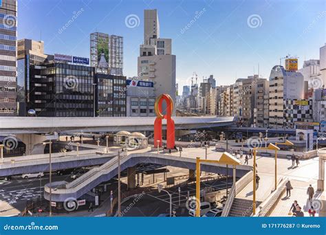
[(230, 155), (230, 153), (224, 152), (219, 160), (207, 160), (200, 159), (200, 157), (196, 158), (196, 216), (200, 216), (200, 163), (213, 163), (213, 164), (225, 164), (233, 166), (233, 184), (235, 185), (235, 168), (237, 165), (240, 165), (241, 161), (239, 159)]

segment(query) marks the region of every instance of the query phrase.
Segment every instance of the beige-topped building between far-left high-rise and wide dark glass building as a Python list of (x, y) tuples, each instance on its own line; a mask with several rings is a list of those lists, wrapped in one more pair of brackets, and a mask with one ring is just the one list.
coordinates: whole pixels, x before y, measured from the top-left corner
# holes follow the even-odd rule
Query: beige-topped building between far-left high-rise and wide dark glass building
[(44, 54), (43, 41), (21, 39), (17, 46), (17, 115), (26, 116), (30, 102), (30, 66), (44, 63), (48, 55)]

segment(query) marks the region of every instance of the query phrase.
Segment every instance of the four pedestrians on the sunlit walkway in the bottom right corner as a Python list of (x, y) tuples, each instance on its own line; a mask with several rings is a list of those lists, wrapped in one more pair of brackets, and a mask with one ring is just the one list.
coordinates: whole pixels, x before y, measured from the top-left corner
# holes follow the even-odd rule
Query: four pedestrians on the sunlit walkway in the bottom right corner
[[(290, 180), (288, 180), (285, 183), (285, 188), (286, 188), (286, 197), (291, 197), (291, 190), (293, 189)], [(314, 209), (314, 206), (312, 205), (312, 198), (314, 197), (314, 188), (310, 184), (309, 187), (307, 188), (307, 195), (308, 195), (308, 203), (310, 204), (310, 208), (308, 210), (309, 216), (315, 216), (316, 210)], [(293, 216), (296, 217), (303, 217), (305, 216), (302, 208), (300, 205), (298, 205), (298, 201), (294, 201), (291, 205), (289, 214), (292, 214)]]

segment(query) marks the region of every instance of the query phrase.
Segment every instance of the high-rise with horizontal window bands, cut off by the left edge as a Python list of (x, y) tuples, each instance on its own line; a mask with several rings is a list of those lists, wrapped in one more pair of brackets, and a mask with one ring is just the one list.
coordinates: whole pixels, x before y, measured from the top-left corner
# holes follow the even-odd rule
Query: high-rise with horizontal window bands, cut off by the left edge
[(0, 5), (0, 116), (17, 115), (17, 0)]

